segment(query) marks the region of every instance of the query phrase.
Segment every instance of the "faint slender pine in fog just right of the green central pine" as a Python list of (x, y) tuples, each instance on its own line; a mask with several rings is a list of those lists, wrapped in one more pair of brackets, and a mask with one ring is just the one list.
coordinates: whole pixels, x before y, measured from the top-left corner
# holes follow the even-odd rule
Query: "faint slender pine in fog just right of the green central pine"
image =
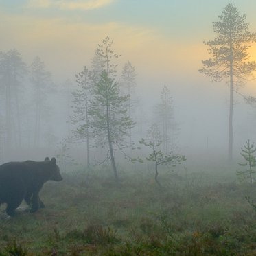
[[(128, 115), (131, 117), (132, 100), (131, 95), (134, 92), (136, 86), (136, 73), (135, 67), (133, 67), (128, 61), (121, 72), (122, 86), (125, 89), (125, 93), (128, 94)], [(132, 130), (129, 130), (130, 148), (132, 148)]]

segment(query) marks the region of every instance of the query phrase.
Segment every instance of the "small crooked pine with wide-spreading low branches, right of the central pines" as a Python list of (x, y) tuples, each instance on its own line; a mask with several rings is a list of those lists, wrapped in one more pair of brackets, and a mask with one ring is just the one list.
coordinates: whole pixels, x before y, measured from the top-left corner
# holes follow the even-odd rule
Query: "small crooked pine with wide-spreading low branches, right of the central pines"
[(157, 185), (161, 187), (161, 183), (159, 183), (158, 176), (159, 176), (159, 165), (172, 165), (173, 167), (177, 164), (180, 164), (182, 161), (185, 161), (186, 158), (183, 155), (173, 154), (173, 152), (169, 152), (168, 154), (164, 154), (160, 150), (160, 146), (163, 143), (161, 141), (161, 132), (159, 130), (159, 126), (157, 124), (153, 124), (150, 126), (150, 130), (148, 130), (148, 139), (141, 139), (139, 143), (143, 144), (144, 146), (150, 148), (152, 151), (146, 160), (152, 161), (154, 163), (154, 180), (156, 181)]

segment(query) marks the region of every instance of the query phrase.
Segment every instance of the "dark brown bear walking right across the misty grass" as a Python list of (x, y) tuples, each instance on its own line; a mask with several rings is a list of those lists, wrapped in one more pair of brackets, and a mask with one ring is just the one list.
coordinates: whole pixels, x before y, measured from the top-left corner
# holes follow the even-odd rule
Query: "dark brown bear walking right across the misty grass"
[(45, 207), (39, 197), (43, 184), (62, 179), (54, 157), (46, 161), (3, 163), (0, 165), (0, 204), (6, 203), (6, 213), (14, 216), (16, 208), (25, 200), (34, 213)]

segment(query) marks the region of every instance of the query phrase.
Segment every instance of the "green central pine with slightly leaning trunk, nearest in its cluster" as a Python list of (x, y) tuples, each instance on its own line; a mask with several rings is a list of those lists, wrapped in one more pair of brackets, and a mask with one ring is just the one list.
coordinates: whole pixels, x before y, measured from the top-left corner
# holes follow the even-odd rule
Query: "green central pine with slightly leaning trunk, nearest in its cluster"
[(116, 181), (118, 181), (114, 150), (124, 149), (128, 130), (135, 124), (126, 108), (128, 95), (121, 96), (119, 86), (106, 71), (102, 71), (100, 80), (93, 86), (93, 99), (89, 115), (93, 137), (100, 146), (108, 146), (106, 160), (110, 159)]

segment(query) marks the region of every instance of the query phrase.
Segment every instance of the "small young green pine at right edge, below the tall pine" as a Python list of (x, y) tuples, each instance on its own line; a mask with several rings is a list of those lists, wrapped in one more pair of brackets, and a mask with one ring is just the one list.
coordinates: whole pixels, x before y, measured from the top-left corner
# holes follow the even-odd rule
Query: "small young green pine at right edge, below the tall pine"
[(246, 166), (248, 169), (243, 171), (237, 171), (237, 175), (240, 176), (240, 178), (250, 179), (250, 182), (253, 183), (253, 174), (256, 172), (253, 170), (253, 167), (256, 166), (256, 156), (254, 153), (256, 152), (256, 148), (254, 146), (254, 143), (250, 143), (250, 140), (248, 139), (246, 143), (244, 144), (244, 148), (241, 148), (242, 153), (241, 156), (243, 156), (245, 163), (238, 163), (240, 166)]

